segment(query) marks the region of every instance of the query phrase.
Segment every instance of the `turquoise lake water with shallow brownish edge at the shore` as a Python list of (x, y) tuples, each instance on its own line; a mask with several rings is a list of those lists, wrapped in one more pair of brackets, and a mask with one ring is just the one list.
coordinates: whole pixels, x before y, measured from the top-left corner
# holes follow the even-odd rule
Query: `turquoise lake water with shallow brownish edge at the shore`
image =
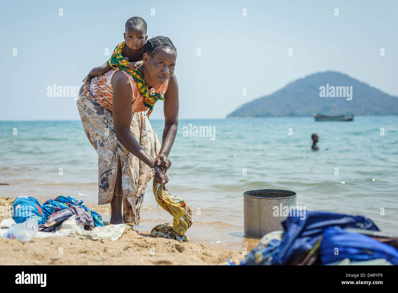
[[(161, 140), (164, 122), (151, 123)], [(190, 124), (209, 126), (213, 136), (189, 136)], [(243, 233), (242, 193), (262, 188), (293, 190), (306, 210), (359, 214), (398, 233), (397, 126), (398, 116), (180, 120), (168, 189), (193, 210), (187, 235), (195, 242), (254, 246), (257, 238)], [(97, 203), (98, 156), (80, 121), (0, 122), (0, 142), (0, 182), (10, 184), (0, 185), (0, 196), (62, 194)], [(146, 231), (172, 221), (156, 205), (152, 180), (141, 219), (138, 229)]]

